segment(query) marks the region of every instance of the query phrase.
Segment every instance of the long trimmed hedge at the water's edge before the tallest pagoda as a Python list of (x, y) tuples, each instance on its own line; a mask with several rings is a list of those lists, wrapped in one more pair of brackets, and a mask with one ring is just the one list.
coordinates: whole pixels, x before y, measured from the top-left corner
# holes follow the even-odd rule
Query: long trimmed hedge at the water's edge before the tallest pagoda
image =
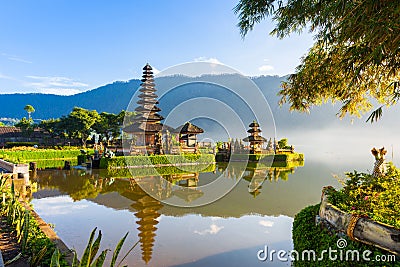
[(125, 156), (102, 158), (101, 169), (126, 168), (127, 166), (158, 165), (158, 164), (210, 164), (214, 163), (212, 154), (184, 154), (184, 155), (154, 155), (154, 156)]

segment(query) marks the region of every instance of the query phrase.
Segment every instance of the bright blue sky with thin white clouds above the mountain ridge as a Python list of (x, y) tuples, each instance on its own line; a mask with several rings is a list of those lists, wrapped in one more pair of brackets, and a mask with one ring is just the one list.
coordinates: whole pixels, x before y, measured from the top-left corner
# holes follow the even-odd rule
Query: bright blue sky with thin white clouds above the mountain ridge
[(308, 33), (270, 36), (266, 20), (243, 40), (225, 1), (10, 0), (0, 6), (0, 93), (72, 94), (211, 60), (245, 75), (292, 73)]

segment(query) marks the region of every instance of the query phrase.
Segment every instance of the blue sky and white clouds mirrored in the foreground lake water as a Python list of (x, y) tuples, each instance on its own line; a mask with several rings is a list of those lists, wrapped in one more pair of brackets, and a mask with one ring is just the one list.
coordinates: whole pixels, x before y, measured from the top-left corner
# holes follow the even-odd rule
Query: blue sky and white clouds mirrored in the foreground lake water
[[(35, 210), (47, 222), (55, 224), (58, 235), (81, 255), (90, 231), (102, 230), (102, 249), (113, 248), (127, 231), (129, 238), (121, 255), (137, 241), (135, 217), (126, 210), (114, 210), (88, 200), (73, 202), (68, 196), (35, 199)], [(150, 266), (172, 266), (208, 260), (236, 251), (242, 263), (257, 264), (256, 252), (268, 245), (276, 249), (292, 248), (292, 218), (287, 216), (246, 215), (240, 218), (203, 217), (186, 215), (158, 218)], [(141, 251), (136, 247), (128, 257), (129, 265), (144, 265)], [(110, 254), (111, 255), (111, 254)], [(207, 264), (211, 266), (210, 262)], [(227, 263), (227, 262), (225, 262)]]

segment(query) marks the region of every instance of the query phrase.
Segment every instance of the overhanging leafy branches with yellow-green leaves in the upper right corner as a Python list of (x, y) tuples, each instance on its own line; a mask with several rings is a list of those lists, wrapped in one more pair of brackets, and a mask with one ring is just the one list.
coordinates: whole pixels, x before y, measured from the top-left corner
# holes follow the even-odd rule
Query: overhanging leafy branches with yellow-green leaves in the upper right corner
[(266, 17), (271, 34), (284, 38), (308, 29), (315, 43), (282, 84), (280, 103), (291, 110), (340, 101), (340, 117), (367, 119), (400, 99), (400, 1), (390, 0), (240, 0), (234, 11), (244, 37)]

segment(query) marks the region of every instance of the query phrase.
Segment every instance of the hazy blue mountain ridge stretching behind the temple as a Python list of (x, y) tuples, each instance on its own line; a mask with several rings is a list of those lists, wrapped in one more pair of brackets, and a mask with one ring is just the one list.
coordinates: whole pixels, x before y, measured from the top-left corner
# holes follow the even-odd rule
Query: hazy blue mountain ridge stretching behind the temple
[[(277, 94), (281, 82), (285, 79), (286, 77), (279, 76), (260, 76), (247, 79), (235, 74), (223, 74), (194, 78), (167, 76), (156, 78), (155, 83), (160, 100), (159, 107), (162, 109), (161, 115), (166, 117), (165, 121), (171, 126), (177, 126), (188, 119), (195, 118), (194, 120), (200, 127), (209, 128), (210, 132), (221, 132), (221, 127), (238, 125), (235, 121), (235, 116), (238, 116), (243, 127), (247, 128), (247, 125), (255, 119), (254, 113), (258, 114), (258, 120), (264, 119), (268, 123), (267, 126), (262, 127), (264, 131), (274, 128), (273, 121), (278, 129), (303, 132), (307, 129), (322, 129), (342, 123), (336, 117), (339, 110), (338, 105), (326, 104), (315, 107), (311, 110), (311, 114), (290, 112), (287, 104), (280, 107)], [(95, 109), (98, 112), (118, 113), (127, 109), (131, 99), (132, 105), (128, 110), (133, 110), (136, 107), (137, 99), (135, 93), (140, 83), (140, 80), (137, 79), (128, 82), (114, 82), (71, 96), (0, 94), (0, 103), (2, 103), (0, 118), (26, 116), (24, 106), (27, 104), (32, 105), (36, 110), (32, 114), (34, 119), (58, 118), (67, 115), (75, 106)], [(261, 99), (264, 97), (270, 106), (273, 118), (269, 115), (266, 101)], [(185, 103), (189, 103), (189, 106), (183, 108)], [(392, 115), (389, 114), (389, 116), (385, 114), (386, 124), (397, 124), (396, 113), (392, 112)], [(209, 118), (196, 119), (199, 116)], [(168, 123), (170, 117), (174, 117), (175, 122)], [(348, 119), (345, 121), (349, 122)], [(364, 120), (358, 122), (356, 120), (356, 124), (364, 125), (365, 123)], [(233, 131), (237, 130), (233, 129)], [(271, 134), (266, 136), (271, 136)]]

